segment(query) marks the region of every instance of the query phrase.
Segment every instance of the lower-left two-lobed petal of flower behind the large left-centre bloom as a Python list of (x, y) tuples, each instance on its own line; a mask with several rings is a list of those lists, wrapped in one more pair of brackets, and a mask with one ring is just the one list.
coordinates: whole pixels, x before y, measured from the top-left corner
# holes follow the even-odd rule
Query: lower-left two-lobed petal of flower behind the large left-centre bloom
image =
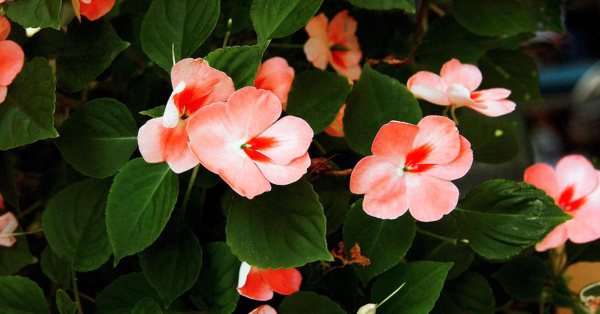
[(183, 120), (174, 128), (166, 128), (163, 117), (150, 119), (137, 132), (137, 144), (144, 160), (148, 163), (166, 161), (176, 174), (198, 165), (188, 140)]

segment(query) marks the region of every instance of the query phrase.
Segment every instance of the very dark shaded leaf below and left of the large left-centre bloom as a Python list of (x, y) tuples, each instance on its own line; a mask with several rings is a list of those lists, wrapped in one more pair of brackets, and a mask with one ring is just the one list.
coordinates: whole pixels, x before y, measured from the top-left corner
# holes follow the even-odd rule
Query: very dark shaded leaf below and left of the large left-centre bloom
[(198, 238), (181, 223), (167, 226), (139, 257), (143, 274), (162, 298), (164, 307), (194, 285), (202, 267)]

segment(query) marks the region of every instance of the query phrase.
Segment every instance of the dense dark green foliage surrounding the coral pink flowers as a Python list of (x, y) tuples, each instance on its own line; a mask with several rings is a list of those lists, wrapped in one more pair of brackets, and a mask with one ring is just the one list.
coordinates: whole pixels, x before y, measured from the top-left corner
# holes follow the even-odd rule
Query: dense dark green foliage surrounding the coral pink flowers
[[(5, 2), (16, 22), (11, 39), (27, 61), (0, 104), (0, 192), (21, 225), (41, 226), (43, 238), (0, 248), (1, 312), (249, 312), (256, 303), (238, 304), (240, 261), (299, 267), (302, 291), (274, 300), (280, 313), (352, 313), (403, 283), (378, 312), (577, 308), (560, 270), (531, 248), (569, 216), (517, 182), (527, 165), (511, 160), (530, 159), (520, 149), (518, 112), (459, 117), (476, 165), (506, 163), (520, 174), (482, 182), (475, 169), (460, 184), (457, 208), (436, 223), (367, 216), (346, 177), (309, 173), (249, 200), (206, 169), (176, 175), (138, 157), (137, 129), (144, 115), (162, 114), (173, 58), (202, 57), (238, 89), (253, 84), (263, 58), (284, 56), (296, 69), (287, 113), (319, 133), (311, 156), (351, 168), (386, 122), (441, 113), (403, 84), (415, 71), (437, 72), (451, 58), (478, 64), (482, 87), (511, 89), (522, 106), (541, 95), (521, 43), (535, 31), (562, 31), (554, 0), (421, 1), (418, 12), (412, 0), (322, 2), (124, 0), (81, 23), (70, 1)], [(366, 58), (409, 62), (365, 64), (353, 85), (306, 70), (295, 47), (307, 38), (302, 26), (318, 11), (331, 17), (344, 8), (358, 20)], [(27, 38), (24, 27), (43, 29)], [(219, 48), (229, 33), (234, 45)], [(346, 136), (320, 133), (344, 103)], [(466, 193), (469, 186), (476, 187)], [(340, 241), (348, 255), (358, 243), (371, 264), (330, 268), (338, 262), (329, 249)], [(600, 258), (589, 252), (569, 247), (569, 262)]]

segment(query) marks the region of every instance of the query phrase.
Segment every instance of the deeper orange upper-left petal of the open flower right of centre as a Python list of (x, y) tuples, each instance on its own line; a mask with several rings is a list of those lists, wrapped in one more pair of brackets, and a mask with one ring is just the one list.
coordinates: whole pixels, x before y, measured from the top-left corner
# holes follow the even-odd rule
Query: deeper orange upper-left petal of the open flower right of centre
[(371, 146), (374, 155), (383, 157), (398, 167), (404, 167), (406, 155), (412, 148), (419, 127), (406, 122), (390, 121), (384, 124)]

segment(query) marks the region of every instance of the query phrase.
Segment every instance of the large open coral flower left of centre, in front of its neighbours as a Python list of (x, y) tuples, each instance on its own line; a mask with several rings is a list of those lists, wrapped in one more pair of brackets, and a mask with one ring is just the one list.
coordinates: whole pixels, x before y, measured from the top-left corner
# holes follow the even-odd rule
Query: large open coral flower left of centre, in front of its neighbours
[(313, 130), (301, 118), (277, 120), (280, 115), (281, 103), (272, 92), (238, 89), (227, 103), (203, 107), (190, 118), (190, 148), (235, 192), (254, 198), (270, 191), (271, 183), (297, 181), (310, 166)]

